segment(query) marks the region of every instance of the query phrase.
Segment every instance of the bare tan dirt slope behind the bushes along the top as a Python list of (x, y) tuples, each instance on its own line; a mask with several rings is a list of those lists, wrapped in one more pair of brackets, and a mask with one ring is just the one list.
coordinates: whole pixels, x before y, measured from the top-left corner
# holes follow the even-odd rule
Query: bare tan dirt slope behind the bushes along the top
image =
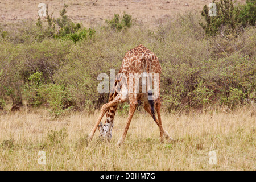
[[(143, 23), (154, 24), (159, 18), (175, 17), (189, 10), (200, 12), (210, 2), (212, 0), (1, 0), (0, 23), (36, 20), (39, 3), (47, 4), (49, 13), (53, 11), (53, 16), (57, 18), (65, 3), (69, 6), (69, 18), (85, 27), (102, 24), (105, 19), (112, 18), (115, 13), (122, 14), (123, 11)], [(245, 0), (237, 2), (244, 3)]]

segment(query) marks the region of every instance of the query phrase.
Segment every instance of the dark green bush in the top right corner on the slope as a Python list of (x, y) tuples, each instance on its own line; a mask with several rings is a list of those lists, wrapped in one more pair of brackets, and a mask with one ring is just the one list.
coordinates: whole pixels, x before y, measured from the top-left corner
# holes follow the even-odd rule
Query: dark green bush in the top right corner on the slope
[(204, 6), (201, 15), (204, 16), (205, 22), (200, 23), (207, 35), (217, 35), (218, 32), (231, 34), (240, 32), (241, 27), (255, 26), (256, 22), (256, 1), (246, 0), (246, 5), (234, 6), (232, 0), (220, 0), (215, 2), (217, 16), (208, 14), (209, 7)]

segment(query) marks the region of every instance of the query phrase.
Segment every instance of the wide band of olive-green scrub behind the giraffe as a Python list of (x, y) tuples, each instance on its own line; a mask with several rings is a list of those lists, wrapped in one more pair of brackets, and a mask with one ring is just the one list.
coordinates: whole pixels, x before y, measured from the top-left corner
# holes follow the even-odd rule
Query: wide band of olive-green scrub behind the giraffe
[[(65, 13), (63, 16), (59, 24), (71, 26)], [(48, 18), (51, 28), (60, 28)], [(125, 19), (129, 22), (128, 16)], [(110, 76), (110, 69), (117, 74), (125, 53), (139, 44), (160, 61), (164, 108), (236, 107), (255, 102), (255, 27), (226, 34), (229, 26), (225, 25), (220, 33), (207, 36), (199, 24), (202, 19), (191, 12), (177, 19), (167, 18), (156, 30), (123, 22), (126, 31), (114, 34), (111, 28), (79, 28), (76, 32), (67, 28), (69, 33), (59, 38), (36, 31), (47, 28), (35, 22), (3, 27), (1, 31), (8, 34), (0, 36), (0, 107), (21, 105), (27, 100), (29, 106), (46, 106), (56, 116), (71, 109), (93, 112), (108, 102), (108, 94), (97, 92), (97, 76)], [(25, 27), (26, 23), (30, 28)], [(127, 106), (120, 105), (118, 112), (126, 113)]]

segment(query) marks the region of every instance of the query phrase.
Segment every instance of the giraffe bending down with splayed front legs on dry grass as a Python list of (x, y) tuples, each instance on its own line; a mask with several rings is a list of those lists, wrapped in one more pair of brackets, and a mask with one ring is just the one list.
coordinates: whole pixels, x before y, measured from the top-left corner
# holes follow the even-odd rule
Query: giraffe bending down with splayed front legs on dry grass
[[(160, 66), (159, 60), (154, 55), (154, 53), (151, 52), (148, 48), (140, 44), (139, 46), (128, 51), (125, 54), (125, 57), (123, 58), (121, 69), (118, 72), (118, 74), (122, 74), (123, 77), (120, 77), (120, 78), (116, 77), (115, 84), (113, 85), (113, 88), (112, 88), (114, 92), (110, 93), (109, 102), (102, 106), (101, 113), (95, 125), (93, 126), (92, 131), (88, 135), (89, 140), (92, 140), (93, 135), (97, 128), (100, 131), (100, 137), (111, 139), (112, 129), (114, 126), (113, 120), (115, 116), (115, 111), (117, 110), (117, 106), (118, 104), (129, 101), (130, 109), (129, 109), (129, 115), (126, 121), (125, 130), (123, 131), (121, 138), (118, 140), (116, 144), (117, 146), (120, 146), (125, 140), (127, 131), (130, 126), (131, 119), (138, 105), (138, 100), (141, 100), (144, 102), (143, 103), (144, 109), (147, 111), (147, 113), (151, 115), (156, 125), (158, 125), (160, 130), (160, 141), (164, 142), (164, 138), (166, 138), (169, 141), (174, 140), (170, 137), (168, 132), (163, 129), (163, 126), (162, 126), (162, 120), (160, 117), (160, 107), (161, 107), (160, 96), (156, 94), (156, 97), (153, 97), (153, 93), (155, 92), (155, 90), (158, 93), (160, 93), (160, 73), (161, 73), (161, 66)], [(142, 75), (142, 77), (147, 76), (147, 74), (149, 75), (153, 74), (151, 77), (147, 76), (148, 78), (147, 92), (141, 92), (142, 84), (139, 85), (140, 92), (135, 92), (135, 89), (137, 89), (138, 87), (137, 84), (140, 84), (141, 80), (139, 80), (139, 77), (131, 78), (130, 77), (131, 74)], [(150, 79), (151, 79), (152, 85), (150, 85), (149, 83)], [(158, 79), (158, 85), (156, 85), (156, 88), (154, 86), (154, 91), (153, 91), (152, 88), (155, 80), (157, 79)], [(118, 89), (119, 89), (119, 92), (117, 92)], [(156, 118), (155, 116), (155, 110), (158, 118)], [(103, 125), (101, 123), (101, 119), (105, 114), (106, 114), (106, 121), (105, 121), (105, 124)]]

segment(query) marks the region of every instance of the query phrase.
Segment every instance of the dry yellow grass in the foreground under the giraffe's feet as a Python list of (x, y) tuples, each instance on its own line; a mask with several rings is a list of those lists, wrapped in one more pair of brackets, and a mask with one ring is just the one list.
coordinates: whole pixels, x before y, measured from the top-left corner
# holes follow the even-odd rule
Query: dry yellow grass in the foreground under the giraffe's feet
[[(255, 106), (234, 111), (163, 113), (175, 143), (160, 143), (147, 114), (134, 115), (125, 143), (117, 148), (126, 116), (117, 115), (110, 143), (88, 143), (97, 113), (53, 118), (46, 110), (0, 115), (0, 170), (255, 170)], [(46, 152), (46, 165), (38, 152)], [(209, 151), (217, 164), (210, 165)]]

